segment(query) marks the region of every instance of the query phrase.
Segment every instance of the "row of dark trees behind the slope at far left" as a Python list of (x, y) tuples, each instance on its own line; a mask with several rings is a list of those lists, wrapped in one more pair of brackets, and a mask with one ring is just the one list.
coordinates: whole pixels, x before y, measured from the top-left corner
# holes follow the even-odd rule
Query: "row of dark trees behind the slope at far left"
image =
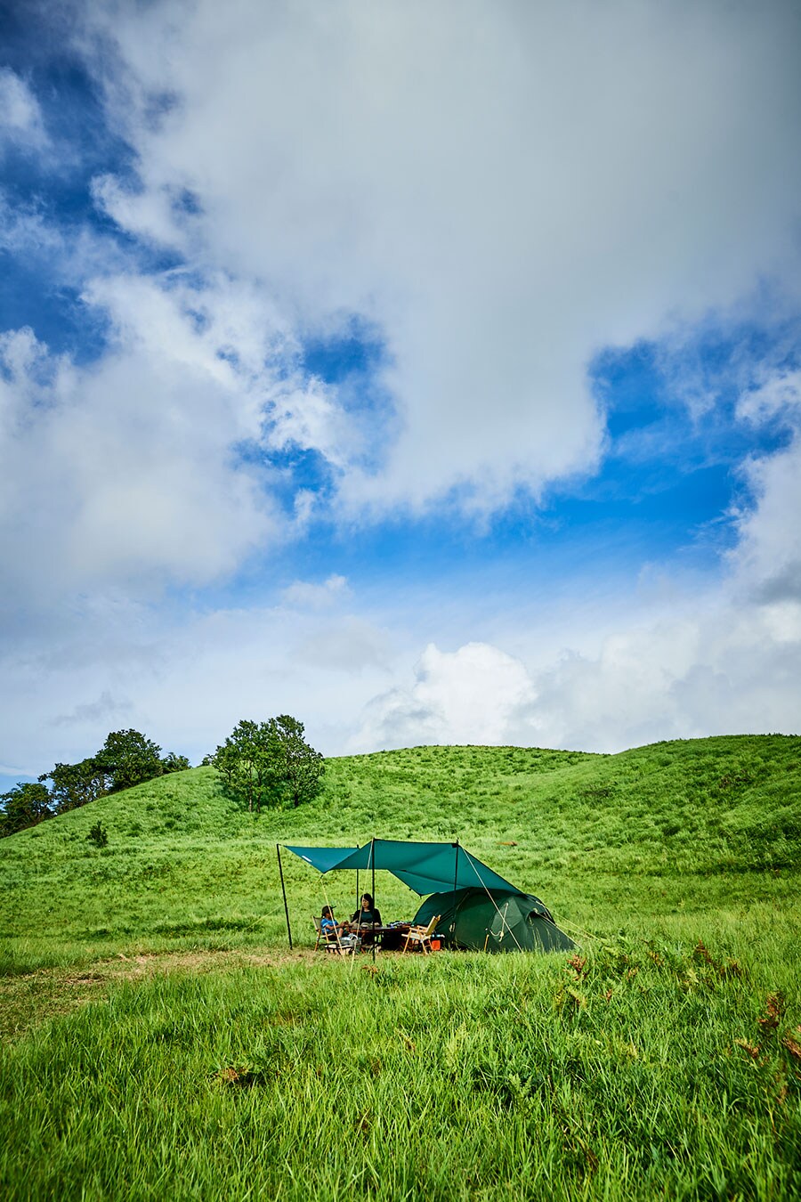
[(143, 780), (190, 767), (186, 756), (174, 751), (162, 757), (159, 744), (138, 731), (112, 731), (100, 751), (86, 760), (56, 763), (36, 784), (18, 784), (0, 793), (0, 838)]

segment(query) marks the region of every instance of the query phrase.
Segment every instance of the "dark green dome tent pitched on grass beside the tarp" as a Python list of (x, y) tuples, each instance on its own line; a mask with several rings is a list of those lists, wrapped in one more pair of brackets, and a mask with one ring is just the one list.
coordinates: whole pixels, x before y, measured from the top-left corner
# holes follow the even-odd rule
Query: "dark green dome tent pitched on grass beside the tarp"
[(464, 888), (432, 893), (414, 916), (447, 944), (477, 952), (569, 952), (576, 945), (539, 898), (509, 889)]

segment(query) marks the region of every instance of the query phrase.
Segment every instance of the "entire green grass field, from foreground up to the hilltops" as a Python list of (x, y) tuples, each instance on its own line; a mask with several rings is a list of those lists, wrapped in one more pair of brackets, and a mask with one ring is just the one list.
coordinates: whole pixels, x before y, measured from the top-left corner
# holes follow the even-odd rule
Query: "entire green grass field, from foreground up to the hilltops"
[[(286, 853), (291, 953), (275, 844), (372, 834), (458, 837), (578, 957), (315, 954), (355, 880)], [(0, 841), (0, 1191), (801, 1197), (800, 864), (781, 736), (341, 758), (259, 819), (207, 768), (103, 798)]]

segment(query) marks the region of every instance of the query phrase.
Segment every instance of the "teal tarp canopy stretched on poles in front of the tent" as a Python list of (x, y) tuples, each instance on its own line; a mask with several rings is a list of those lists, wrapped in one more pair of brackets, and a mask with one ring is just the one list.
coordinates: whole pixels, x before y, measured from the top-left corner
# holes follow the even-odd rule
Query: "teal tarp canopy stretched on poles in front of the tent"
[(318, 873), (352, 868), (372, 868), (391, 873), (420, 897), (465, 886), (482, 886), (525, 894), (458, 843), (406, 843), (395, 839), (372, 839), (364, 847), (291, 847), (300, 859)]

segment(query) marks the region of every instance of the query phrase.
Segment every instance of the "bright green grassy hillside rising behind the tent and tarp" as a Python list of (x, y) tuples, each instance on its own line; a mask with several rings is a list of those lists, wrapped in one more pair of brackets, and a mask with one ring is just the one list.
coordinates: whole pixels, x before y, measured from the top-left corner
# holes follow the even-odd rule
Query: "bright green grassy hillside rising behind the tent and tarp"
[[(86, 839), (98, 821), (104, 849)], [(707, 904), (715, 888), (733, 903), (767, 899), (772, 881), (801, 864), (801, 738), (719, 737), (614, 756), (480, 746), (352, 756), (328, 761), (313, 804), (261, 817), (227, 798), (213, 769), (195, 768), (0, 840), (0, 938), (14, 963), (282, 940), (275, 844), (372, 834), (459, 838), (582, 926), (598, 924), (599, 908), (612, 915), (605, 923), (623, 921), (634, 880), (641, 914)], [(283, 867), (301, 939), (323, 898), (353, 908), (346, 874), (321, 879), (289, 855)], [(399, 882), (378, 883), (384, 912), (413, 912)]]

